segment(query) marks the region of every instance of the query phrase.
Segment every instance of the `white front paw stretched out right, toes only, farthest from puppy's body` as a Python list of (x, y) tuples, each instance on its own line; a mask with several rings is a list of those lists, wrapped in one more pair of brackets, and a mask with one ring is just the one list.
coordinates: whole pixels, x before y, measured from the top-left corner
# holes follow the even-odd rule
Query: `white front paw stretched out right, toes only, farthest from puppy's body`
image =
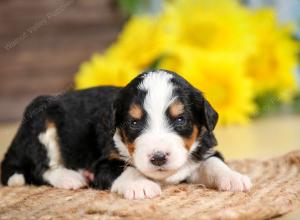
[(222, 191), (247, 192), (252, 187), (248, 176), (242, 175), (236, 171), (227, 171), (215, 179), (216, 187)]

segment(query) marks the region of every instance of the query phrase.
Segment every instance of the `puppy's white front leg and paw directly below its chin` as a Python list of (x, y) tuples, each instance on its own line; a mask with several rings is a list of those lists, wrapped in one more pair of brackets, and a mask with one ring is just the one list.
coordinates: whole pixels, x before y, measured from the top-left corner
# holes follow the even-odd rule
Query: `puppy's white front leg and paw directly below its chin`
[(159, 184), (147, 179), (133, 167), (124, 170), (114, 181), (111, 191), (123, 195), (126, 199), (146, 199), (161, 194)]

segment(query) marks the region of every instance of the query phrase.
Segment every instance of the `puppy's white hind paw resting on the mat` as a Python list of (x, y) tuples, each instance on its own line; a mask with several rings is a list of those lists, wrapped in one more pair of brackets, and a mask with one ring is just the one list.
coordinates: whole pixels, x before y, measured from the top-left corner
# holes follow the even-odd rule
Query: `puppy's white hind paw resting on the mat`
[(65, 168), (48, 170), (43, 177), (57, 188), (80, 189), (87, 186), (86, 179), (79, 172)]

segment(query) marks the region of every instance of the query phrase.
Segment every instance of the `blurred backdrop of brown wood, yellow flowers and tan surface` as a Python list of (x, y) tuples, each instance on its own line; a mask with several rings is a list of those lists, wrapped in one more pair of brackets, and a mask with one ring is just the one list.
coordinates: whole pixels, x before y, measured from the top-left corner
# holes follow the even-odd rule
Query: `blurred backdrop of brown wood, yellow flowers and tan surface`
[(0, 158), (42, 94), (164, 68), (220, 114), (226, 158), (300, 149), (300, 0), (0, 1)]

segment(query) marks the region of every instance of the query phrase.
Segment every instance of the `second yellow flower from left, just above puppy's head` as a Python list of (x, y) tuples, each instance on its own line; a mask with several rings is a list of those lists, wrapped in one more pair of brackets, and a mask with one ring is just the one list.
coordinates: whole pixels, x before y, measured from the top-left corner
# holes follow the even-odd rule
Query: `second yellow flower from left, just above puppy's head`
[(158, 17), (131, 18), (106, 55), (128, 62), (141, 71), (147, 69), (163, 53), (172, 38), (161, 25)]

